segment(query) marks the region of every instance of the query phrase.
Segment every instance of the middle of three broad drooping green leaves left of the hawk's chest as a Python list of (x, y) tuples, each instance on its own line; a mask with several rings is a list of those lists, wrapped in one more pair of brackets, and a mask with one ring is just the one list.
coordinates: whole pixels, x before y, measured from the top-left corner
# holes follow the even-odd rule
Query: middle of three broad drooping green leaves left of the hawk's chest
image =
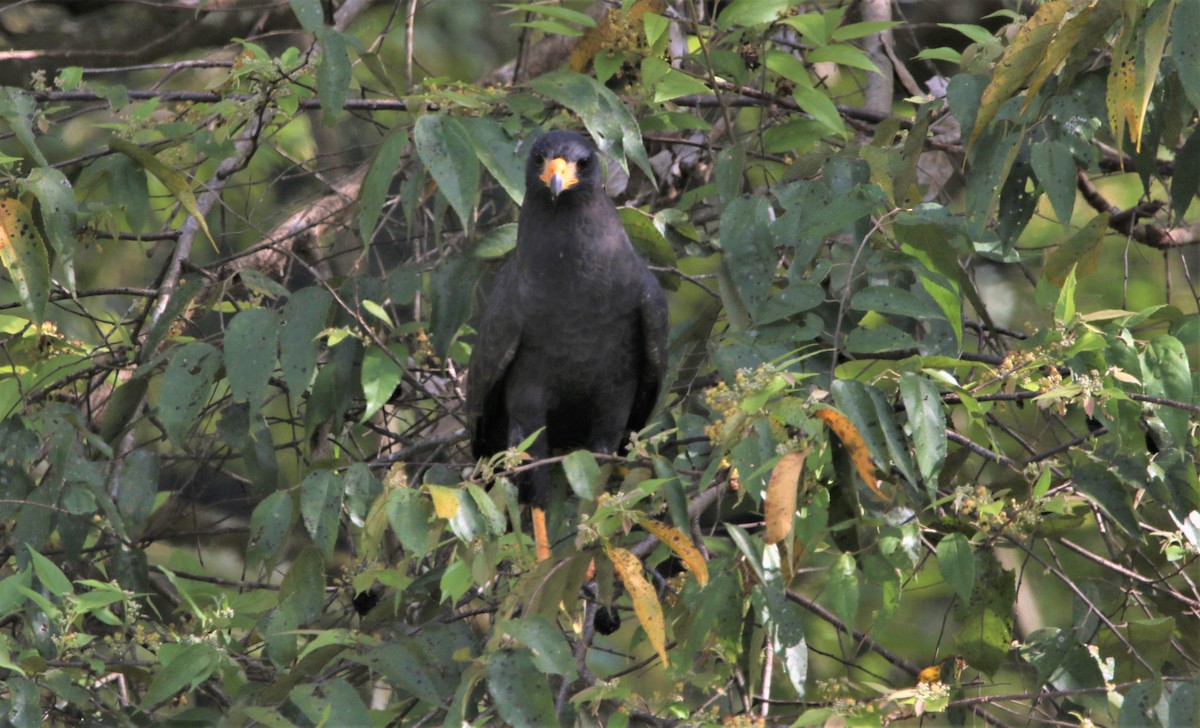
[(226, 329), (224, 363), (234, 402), (250, 404), (257, 413), (266, 399), (266, 385), (275, 373), (280, 317), (266, 308), (239, 312)]

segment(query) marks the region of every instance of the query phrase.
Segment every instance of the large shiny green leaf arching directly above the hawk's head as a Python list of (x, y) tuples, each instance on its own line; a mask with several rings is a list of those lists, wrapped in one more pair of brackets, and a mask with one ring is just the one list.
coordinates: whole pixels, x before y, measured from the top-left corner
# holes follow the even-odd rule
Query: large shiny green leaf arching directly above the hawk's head
[(629, 172), (630, 160), (648, 179), (655, 179), (637, 120), (604, 84), (581, 73), (552, 71), (530, 80), (529, 86), (578, 114), (600, 151), (614, 157), (623, 170)]

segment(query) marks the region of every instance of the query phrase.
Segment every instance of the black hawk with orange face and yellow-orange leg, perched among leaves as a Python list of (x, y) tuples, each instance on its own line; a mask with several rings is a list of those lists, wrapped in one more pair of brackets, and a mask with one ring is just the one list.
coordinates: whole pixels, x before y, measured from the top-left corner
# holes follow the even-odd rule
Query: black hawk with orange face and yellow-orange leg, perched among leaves
[[(467, 369), (475, 457), (614, 452), (654, 408), (667, 362), (667, 306), (605, 194), (595, 145), (553, 131), (533, 145), (512, 258), (497, 275)], [(550, 556), (550, 471), (517, 480)]]

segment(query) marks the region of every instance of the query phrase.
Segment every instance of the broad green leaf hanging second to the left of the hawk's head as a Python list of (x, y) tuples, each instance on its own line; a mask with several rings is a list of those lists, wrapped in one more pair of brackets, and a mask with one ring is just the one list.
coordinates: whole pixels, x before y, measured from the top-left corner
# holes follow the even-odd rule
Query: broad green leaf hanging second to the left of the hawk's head
[(479, 158), (467, 131), (452, 116), (426, 114), (413, 127), (416, 155), (454, 207), (463, 229), (472, 223), (479, 194)]

